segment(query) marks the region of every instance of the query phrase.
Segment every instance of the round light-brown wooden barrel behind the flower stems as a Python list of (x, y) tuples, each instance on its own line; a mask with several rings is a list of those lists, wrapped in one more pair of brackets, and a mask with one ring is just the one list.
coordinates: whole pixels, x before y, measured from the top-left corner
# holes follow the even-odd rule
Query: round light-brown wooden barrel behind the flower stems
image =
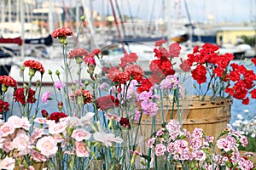
[[(213, 136), (216, 139), (230, 123), (230, 109), (232, 99), (214, 99), (211, 96), (206, 96), (204, 101), (201, 101), (199, 96), (189, 96), (180, 101), (179, 111), (183, 128), (193, 132), (195, 127), (202, 128), (207, 136)], [(172, 97), (163, 102), (164, 119), (169, 122), (173, 113), (173, 119), (178, 120), (177, 104), (174, 105), (172, 111)], [(162, 124), (161, 111), (155, 116), (155, 129), (160, 129)], [(148, 153), (147, 141), (151, 135), (152, 117), (143, 116), (139, 127), (139, 138), (143, 139), (139, 148), (143, 153)]]

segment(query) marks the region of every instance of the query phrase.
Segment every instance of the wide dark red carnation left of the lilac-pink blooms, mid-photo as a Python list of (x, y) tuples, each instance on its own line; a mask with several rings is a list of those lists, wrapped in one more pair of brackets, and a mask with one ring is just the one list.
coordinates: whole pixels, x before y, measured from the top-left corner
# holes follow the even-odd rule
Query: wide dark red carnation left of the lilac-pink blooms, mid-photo
[(119, 106), (119, 99), (113, 95), (106, 95), (96, 99), (96, 106), (101, 110), (112, 109), (113, 107)]

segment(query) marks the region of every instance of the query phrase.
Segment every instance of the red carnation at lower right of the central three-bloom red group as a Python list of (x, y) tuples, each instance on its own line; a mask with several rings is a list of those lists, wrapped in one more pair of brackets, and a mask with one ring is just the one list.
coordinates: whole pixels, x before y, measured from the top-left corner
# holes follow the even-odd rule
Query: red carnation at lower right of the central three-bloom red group
[(141, 82), (143, 80), (144, 72), (139, 65), (127, 65), (125, 66), (125, 72), (128, 72), (130, 77)]

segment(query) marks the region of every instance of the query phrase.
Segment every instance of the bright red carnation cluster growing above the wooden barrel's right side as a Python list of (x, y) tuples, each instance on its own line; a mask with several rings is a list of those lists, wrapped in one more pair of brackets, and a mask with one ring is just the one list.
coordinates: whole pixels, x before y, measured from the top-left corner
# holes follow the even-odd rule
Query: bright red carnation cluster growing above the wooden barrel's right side
[[(247, 70), (245, 65), (230, 63), (234, 59), (233, 54), (218, 54), (218, 46), (209, 43), (201, 48), (196, 46), (192, 54), (188, 54), (188, 59), (180, 65), (183, 71), (189, 71), (193, 79), (201, 88), (202, 84), (207, 84), (203, 98), (212, 92), (212, 99), (217, 97), (225, 98), (232, 96), (235, 99), (241, 99), (242, 104), (248, 105), (251, 94), (255, 99), (255, 81), (256, 74)], [(252, 59), (253, 62), (254, 58)], [(228, 95), (227, 95), (228, 94)]]

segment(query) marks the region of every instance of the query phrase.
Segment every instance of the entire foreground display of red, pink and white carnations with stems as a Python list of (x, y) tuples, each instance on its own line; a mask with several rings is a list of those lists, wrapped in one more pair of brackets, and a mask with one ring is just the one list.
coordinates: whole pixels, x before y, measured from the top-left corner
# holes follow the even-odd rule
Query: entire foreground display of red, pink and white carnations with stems
[[(254, 99), (255, 73), (245, 65), (231, 63), (232, 54), (218, 54), (218, 46), (205, 44), (179, 59), (177, 42), (165, 48), (166, 40), (159, 40), (148, 65), (149, 75), (137, 65), (140, 56), (132, 52), (125, 52), (119, 65), (105, 68), (101, 74), (96, 73), (97, 67), (103, 70), (97, 62), (104, 57), (101, 50), (69, 48), (70, 36), (73, 31), (69, 28), (52, 32), (64, 52), (64, 75), (48, 71), (52, 91), (42, 91), (47, 71), (39, 61), (26, 60), (20, 66), (24, 79), (29, 70), (22, 87), (12, 77), (0, 77), (0, 169), (32, 169), (37, 162), (55, 170), (90, 169), (95, 161), (100, 161), (102, 169), (168, 169), (177, 165), (184, 169), (253, 169), (250, 157), (241, 156), (238, 150), (238, 145), (247, 145), (243, 133), (230, 125), (218, 138), (207, 136), (198, 127), (191, 133), (183, 129), (181, 120), (179, 102), (186, 99), (189, 89), (183, 87), (186, 78), (179, 77), (177, 66), (184, 74), (191, 73), (200, 93), (207, 84), (207, 91), (198, 95), (212, 90), (212, 100), (232, 96), (245, 105), (249, 94)], [(78, 65), (76, 80), (69, 59)], [(256, 65), (254, 58), (252, 63)], [(81, 77), (83, 69), (89, 80)], [(33, 86), (36, 71), (41, 79)], [(4, 98), (8, 91), (12, 103)]]

